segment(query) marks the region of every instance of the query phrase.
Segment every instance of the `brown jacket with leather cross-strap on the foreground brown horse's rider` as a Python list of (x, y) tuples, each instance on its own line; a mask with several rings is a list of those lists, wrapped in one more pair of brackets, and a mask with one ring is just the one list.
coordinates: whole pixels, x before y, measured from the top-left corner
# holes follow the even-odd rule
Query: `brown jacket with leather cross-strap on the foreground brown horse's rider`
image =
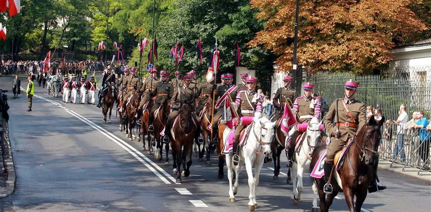
[[(345, 110), (341, 100), (342, 99), (337, 99), (334, 102), (332, 102), (331, 107), (329, 108), (329, 111), (324, 120), (325, 128), (327, 129), (329, 135), (331, 135), (333, 132), (336, 132), (336, 129), (337, 129), (337, 126), (332, 123), (337, 123), (337, 122), (353, 123), (354, 122), (352, 121), (347, 111)], [(338, 104), (338, 107), (337, 107), (337, 104)], [(362, 126), (366, 124), (364, 103), (356, 99), (353, 99), (349, 102), (346, 102), (346, 107), (350, 111), (353, 118), (355, 119), (355, 122), (358, 125), (358, 128), (346, 127), (344, 125), (338, 126), (339, 128), (338, 139), (342, 141), (347, 141), (348, 139), (352, 138), (355, 135), (356, 131), (358, 131), (358, 129), (361, 129)], [(338, 114), (337, 114), (337, 111), (338, 111)]]

